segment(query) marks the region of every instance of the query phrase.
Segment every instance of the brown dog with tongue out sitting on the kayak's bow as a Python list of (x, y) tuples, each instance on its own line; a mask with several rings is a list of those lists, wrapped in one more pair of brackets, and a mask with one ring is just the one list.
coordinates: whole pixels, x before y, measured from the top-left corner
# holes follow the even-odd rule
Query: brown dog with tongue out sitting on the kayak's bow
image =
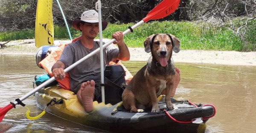
[[(148, 63), (134, 75), (122, 94), (125, 109), (131, 112), (159, 112), (157, 97), (166, 90), (166, 106), (173, 109), (170, 100), (175, 81), (172, 51), (180, 51), (180, 41), (170, 34), (153, 34), (144, 41), (145, 51), (152, 56)], [(139, 108), (139, 109), (138, 109)]]

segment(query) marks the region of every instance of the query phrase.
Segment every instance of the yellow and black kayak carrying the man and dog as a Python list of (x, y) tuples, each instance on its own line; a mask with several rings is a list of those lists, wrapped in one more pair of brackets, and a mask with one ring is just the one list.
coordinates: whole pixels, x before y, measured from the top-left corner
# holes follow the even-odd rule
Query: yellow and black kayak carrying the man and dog
[[(86, 113), (72, 91), (58, 86), (35, 93), (39, 108), (70, 122), (102, 130), (124, 133), (204, 133), (207, 120), (215, 115), (214, 106), (196, 105), (171, 99), (178, 109), (168, 110), (165, 95), (158, 97), (160, 112), (131, 113), (122, 105), (93, 102), (93, 111)], [(48, 106), (47, 106), (48, 105)], [(195, 120), (194, 122), (192, 122)]]

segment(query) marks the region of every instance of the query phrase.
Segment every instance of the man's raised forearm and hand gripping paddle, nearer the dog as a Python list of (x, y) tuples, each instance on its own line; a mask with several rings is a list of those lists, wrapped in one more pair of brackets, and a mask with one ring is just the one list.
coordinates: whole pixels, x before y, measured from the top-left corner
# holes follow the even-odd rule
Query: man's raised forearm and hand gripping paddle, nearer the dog
[(125, 42), (123, 41), (122, 31), (115, 32), (114, 34), (112, 34), (112, 37), (116, 39), (116, 41), (113, 43), (117, 44), (119, 48), (119, 54), (117, 56), (117, 59), (123, 60), (123, 61), (129, 60), (130, 52)]

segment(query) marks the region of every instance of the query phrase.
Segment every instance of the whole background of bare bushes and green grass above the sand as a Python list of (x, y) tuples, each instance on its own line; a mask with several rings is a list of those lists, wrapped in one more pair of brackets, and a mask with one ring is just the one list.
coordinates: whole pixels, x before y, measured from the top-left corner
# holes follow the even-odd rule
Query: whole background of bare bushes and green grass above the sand
[[(83, 11), (95, 8), (97, 1), (59, 0), (68, 25), (79, 19)], [(161, 0), (102, 0), (102, 19), (113, 25), (109, 25), (106, 31), (120, 30), (121, 27), (126, 29), (128, 24), (140, 21), (160, 2)], [(33, 38), (36, 6), (37, 0), (0, 0), (0, 40)], [(55, 0), (52, 12), (55, 38), (68, 38)], [(175, 13), (156, 22), (151, 21), (143, 27), (140, 28), (141, 33), (131, 35), (133, 38), (128, 41), (135, 41), (129, 45), (141, 43), (150, 34), (171, 33), (181, 37), (186, 42), (184, 48), (188, 49), (255, 51), (256, 0), (180, 0)], [(73, 37), (79, 36), (79, 32), (71, 27), (70, 29)], [(111, 37), (111, 33), (104, 35)], [(188, 47), (191, 43), (194, 46)]]

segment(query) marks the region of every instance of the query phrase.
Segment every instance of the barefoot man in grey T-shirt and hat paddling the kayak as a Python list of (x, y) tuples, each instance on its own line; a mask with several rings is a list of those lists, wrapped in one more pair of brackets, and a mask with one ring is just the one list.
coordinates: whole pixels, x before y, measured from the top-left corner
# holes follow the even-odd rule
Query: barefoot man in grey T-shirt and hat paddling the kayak
[[(102, 30), (107, 25), (106, 21), (102, 21)], [(99, 33), (99, 17), (95, 10), (84, 11), (81, 20), (73, 22), (73, 28), (81, 31), (81, 39), (67, 45), (60, 59), (52, 66), (52, 74), (55, 79), (63, 79), (65, 68), (99, 48), (99, 43), (94, 41)], [(110, 61), (130, 59), (130, 53), (123, 41), (122, 32), (117, 31), (112, 34), (112, 37), (116, 39), (113, 43), (118, 45), (118, 49), (111, 45), (104, 49), (104, 65), (108, 65)], [(93, 110), (93, 99), (98, 100), (101, 96), (99, 53), (77, 65), (69, 74), (71, 91), (77, 94), (84, 110), (91, 112)]]

